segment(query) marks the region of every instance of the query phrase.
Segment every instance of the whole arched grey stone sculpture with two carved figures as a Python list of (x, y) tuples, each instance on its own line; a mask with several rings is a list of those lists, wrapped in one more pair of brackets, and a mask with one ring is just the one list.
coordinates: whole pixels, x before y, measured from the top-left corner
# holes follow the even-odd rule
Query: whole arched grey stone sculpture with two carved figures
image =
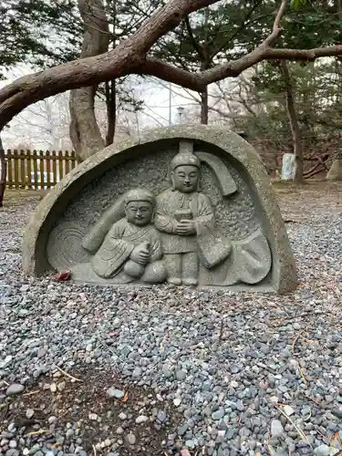
[(203, 126), (152, 131), (71, 171), (26, 229), (24, 268), (112, 285), (296, 283), (262, 162), (238, 135)]

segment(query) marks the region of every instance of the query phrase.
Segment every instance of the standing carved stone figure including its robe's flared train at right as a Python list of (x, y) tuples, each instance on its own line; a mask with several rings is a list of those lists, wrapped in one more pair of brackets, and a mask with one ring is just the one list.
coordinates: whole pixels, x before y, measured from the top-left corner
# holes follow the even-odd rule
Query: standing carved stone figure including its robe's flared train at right
[(232, 242), (215, 226), (210, 198), (200, 190), (201, 160), (181, 149), (170, 165), (171, 188), (157, 196), (154, 218), (161, 232), (167, 280), (172, 285), (257, 284), (272, 256), (262, 231)]

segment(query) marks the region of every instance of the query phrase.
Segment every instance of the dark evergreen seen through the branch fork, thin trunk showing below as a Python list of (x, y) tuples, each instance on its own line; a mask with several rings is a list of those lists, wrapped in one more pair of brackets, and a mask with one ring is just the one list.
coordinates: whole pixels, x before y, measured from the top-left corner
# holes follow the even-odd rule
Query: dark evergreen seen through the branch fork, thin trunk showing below
[[(170, 35), (161, 38), (152, 54), (189, 72), (208, 70), (226, 59), (242, 57), (257, 46), (264, 34), (257, 33), (254, 23), (271, 16), (268, 22), (272, 26), (274, 11), (274, 2), (221, 2), (187, 16)], [(208, 87), (199, 94), (201, 123), (207, 124)]]

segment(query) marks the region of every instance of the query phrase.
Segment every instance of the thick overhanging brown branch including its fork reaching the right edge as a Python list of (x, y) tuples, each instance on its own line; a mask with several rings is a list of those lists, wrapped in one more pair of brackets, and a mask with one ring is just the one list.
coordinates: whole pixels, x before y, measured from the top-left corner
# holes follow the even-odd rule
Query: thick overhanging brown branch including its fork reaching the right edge
[(244, 57), (223, 65), (191, 73), (172, 67), (158, 59), (146, 57), (156, 41), (178, 26), (187, 15), (218, 0), (170, 0), (152, 15), (130, 38), (115, 49), (96, 57), (82, 58), (40, 73), (17, 79), (0, 90), (0, 130), (16, 114), (40, 99), (73, 88), (89, 87), (131, 73), (150, 75), (201, 92), (208, 84), (227, 77), (237, 77), (245, 69), (263, 60), (315, 60), (318, 57), (342, 55), (342, 44), (314, 49), (271, 47), (282, 29), (287, 0), (283, 0), (275, 17), (272, 33)]

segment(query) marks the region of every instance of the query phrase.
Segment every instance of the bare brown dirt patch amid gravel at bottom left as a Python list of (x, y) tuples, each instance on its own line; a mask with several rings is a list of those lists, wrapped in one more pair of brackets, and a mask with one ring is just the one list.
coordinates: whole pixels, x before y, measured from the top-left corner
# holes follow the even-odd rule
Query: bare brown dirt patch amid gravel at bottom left
[[(102, 441), (105, 445), (110, 435), (118, 435), (119, 438), (118, 429), (121, 429), (120, 455), (131, 455), (136, 451), (141, 455), (167, 454), (162, 448), (170, 428), (179, 420), (179, 413), (172, 403), (161, 402), (161, 398), (158, 399), (153, 391), (136, 387), (131, 382), (122, 382), (112, 370), (100, 368), (99, 374), (96, 367), (78, 369), (72, 372), (74, 378), (65, 371), (58, 373), (60, 377), (39, 379), (26, 389), (25, 394), (6, 399), (5, 407), (0, 409), (0, 431), (5, 430), (8, 423), (15, 423), (16, 428), (25, 427), (26, 436), (40, 435), (50, 443), (51, 448), (58, 448), (56, 434), (60, 432), (65, 435), (66, 430), (71, 428), (69, 423), (77, 423), (77, 426), (73, 425), (73, 438), (76, 433), (82, 440), (83, 449), (88, 454), (107, 454), (106, 447), (94, 448), (94, 443)], [(107, 397), (107, 389), (113, 386), (125, 391), (122, 399)], [(26, 416), (27, 409), (35, 412), (29, 419)], [(142, 424), (135, 422), (139, 414), (150, 417), (153, 410), (158, 409), (163, 409), (168, 417), (162, 425), (151, 420)], [(120, 418), (121, 413), (126, 415), (126, 419)], [(51, 417), (56, 417), (52, 427)], [(133, 433), (140, 442), (134, 449), (124, 438), (128, 432)], [(64, 443), (67, 444), (67, 441)]]

